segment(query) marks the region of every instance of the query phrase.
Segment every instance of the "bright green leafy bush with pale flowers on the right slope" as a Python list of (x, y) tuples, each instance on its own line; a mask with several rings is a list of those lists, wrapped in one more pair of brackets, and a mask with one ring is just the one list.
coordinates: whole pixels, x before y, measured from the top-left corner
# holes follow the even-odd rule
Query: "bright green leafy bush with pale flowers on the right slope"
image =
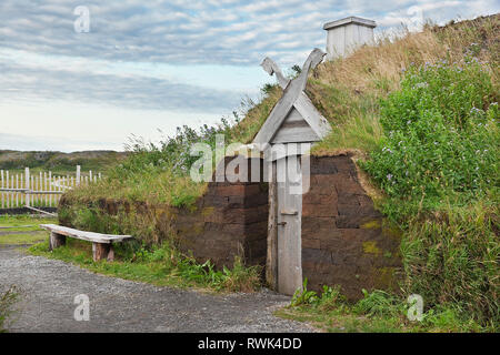
[(386, 136), (364, 168), (392, 196), (442, 199), (498, 185), (498, 103), (481, 63), (411, 67), (381, 102)]

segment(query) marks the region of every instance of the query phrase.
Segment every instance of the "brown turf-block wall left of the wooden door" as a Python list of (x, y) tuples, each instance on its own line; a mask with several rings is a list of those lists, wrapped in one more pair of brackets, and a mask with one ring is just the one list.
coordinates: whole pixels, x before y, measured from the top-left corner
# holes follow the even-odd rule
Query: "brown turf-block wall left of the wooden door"
[[(261, 162), (260, 168), (262, 174)], [(250, 181), (250, 161), (248, 174)], [(267, 183), (226, 179), (210, 182), (193, 211), (178, 210), (172, 232), (180, 248), (200, 262), (210, 258), (217, 267), (232, 266), (239, 255), (247, 265), (266, 265), (268, 214)]]

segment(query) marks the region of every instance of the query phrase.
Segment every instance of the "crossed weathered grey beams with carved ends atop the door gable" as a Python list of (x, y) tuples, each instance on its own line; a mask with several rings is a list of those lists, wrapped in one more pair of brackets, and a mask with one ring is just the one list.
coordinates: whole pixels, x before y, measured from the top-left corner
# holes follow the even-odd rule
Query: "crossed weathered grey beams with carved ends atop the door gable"
[(320, 49), (313, 49), (306, 60), (302, 71), (293, 80), (287, 79), (272, 59), (266, 58), (262, 61), (262, 68), (270, 75), (276, 74), (279, 85), (283, 89), (283, 95), (272, 109), (269, 118), (256, 135), (253, 143), (269, 143), (292, 108), (296, 108), (297, 111), (299, 111), (320, 139), (324, 138), (331, 131), (328, 121), (318, 112), (311, 100), (309, 100), (303, 92), (308, 81), (309, 71), (314, 69), (322, 61), (324, 55), (326, 53)]

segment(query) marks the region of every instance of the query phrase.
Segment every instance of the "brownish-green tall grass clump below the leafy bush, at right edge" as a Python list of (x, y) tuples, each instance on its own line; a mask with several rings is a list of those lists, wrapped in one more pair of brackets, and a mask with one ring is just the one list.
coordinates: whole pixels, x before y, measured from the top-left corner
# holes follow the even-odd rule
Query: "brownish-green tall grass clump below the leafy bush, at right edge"
[[(481, 321), (500, 322), (498, 206), (483, 202), (410, 220), (402, 242), (404, 287), (429, 305), (454, 304)], [(497, 226), (494, 226), (497, 225)]]

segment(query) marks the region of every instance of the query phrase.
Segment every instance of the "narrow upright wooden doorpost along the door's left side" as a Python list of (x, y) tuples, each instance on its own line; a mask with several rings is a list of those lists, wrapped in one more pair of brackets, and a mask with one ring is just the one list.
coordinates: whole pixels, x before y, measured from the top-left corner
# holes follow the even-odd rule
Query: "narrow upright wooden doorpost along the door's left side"
[[(266, 164), (266, 162), (264, 162)], [(266, 281), (271, 290), (278, 290), (278, 190), (277, 164), (269, 162), (269, 220), (268, 253), (266, 261)]]

